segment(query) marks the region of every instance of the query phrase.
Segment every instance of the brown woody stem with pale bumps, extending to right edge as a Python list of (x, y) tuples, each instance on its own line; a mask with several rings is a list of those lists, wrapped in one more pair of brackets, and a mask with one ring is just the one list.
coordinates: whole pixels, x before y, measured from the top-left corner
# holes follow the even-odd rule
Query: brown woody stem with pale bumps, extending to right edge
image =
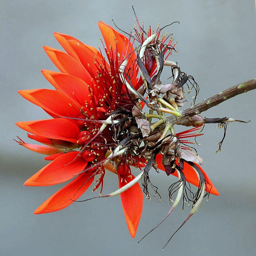
[(229, 98), (235, 97), (241, 93), (245, 93), (253, 89), (256, 89), (256, 78), (241, 83), (239, 85), (235, 85), (225, 91), (222, 91), (210, 98), (203, 100), (202, 102), (192, 106), (189, 109), (182, 110), (181, 115), (179, 117), (167, 117), (166, 122), (170, 123), (171, 125), (182, 123), (184, 119), (198, 115), (203, 111), (206, 111), (214, 106), (217, 106), (219, 103)]

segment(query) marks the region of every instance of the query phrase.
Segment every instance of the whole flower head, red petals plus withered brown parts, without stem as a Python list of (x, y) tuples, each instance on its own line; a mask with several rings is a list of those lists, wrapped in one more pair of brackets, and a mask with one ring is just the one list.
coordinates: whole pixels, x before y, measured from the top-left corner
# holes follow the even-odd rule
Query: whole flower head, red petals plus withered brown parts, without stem
[[(192, 203), (192, 215), (209, 193), (219, 195), (200, 165), (202, 159), (189, 147), (204, 120), (194, 116), (187, 131), (175, 133), (166, 115), (180, 116), (185, 104), (183, 85), (192, 76), (176, 62), (167, 61), (175, 47), (170, 36), (161, 36), (159, 27), (147, 31), (138, 24), (127, 37), (102, 22), (104, 39), (96, 49), (74, 37), (54, 33), (64, 51), (44, 47), (60, 72), (43, 70), (54, 89), (21, 90), (19, 94), (45, 110), (50, 118), (16, 124), (40, 144), (17, 142), (45, 157), (49, 164), (24, 185), (48, 186), (70, 181), (50, 196), (35, 214), (61, 210), (77, 199), (95, 181), (100, 197), (120, 195), (128, 230), (135, 236), (142, 213), (143, 198), (149, 197), (149, 170), (165, 171), (178, 177), (169, 188), (170, 201), (177, 192), (171, 211), (182, 199)], [(135, 43), (139, 46), (134, 47)], [(169, 66), (170, 84), (162, 84), (160, 74)], [(132, 174), (131, 167), (138, 169)], [(115, 173), (119, 189), (101, 195), (106, 170)], [(136, 170), (133, 170), (133, 172)], [(143, 191), (138, 183), (142, 180)], [(189, 183), (198, 189), (192, 192)], [(170, 211), (170, 212), (171, 212)], [(190, 217), (190, 216), (189, 216)]]

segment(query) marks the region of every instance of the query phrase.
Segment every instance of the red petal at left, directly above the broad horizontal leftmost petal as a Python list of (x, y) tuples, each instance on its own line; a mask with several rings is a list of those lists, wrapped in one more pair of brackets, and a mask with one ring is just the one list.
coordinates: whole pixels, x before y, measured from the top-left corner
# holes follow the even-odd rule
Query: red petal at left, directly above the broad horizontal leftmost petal
[(53, 117), (77, 117), (80, 115), (80, 110), (76, 104), (61, 92), (49, 89), (34, 89), (20, 90), (18, 93), (49, 112)]

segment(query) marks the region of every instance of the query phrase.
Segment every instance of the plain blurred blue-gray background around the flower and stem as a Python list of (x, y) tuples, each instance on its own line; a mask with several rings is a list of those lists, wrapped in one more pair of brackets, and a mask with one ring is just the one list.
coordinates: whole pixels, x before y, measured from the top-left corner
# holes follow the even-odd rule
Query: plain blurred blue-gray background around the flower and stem
[[(119, 197), (74, 203), (62, 211), (33, 215), (33, 211), (60, 186), (25, 187), (24, 181), (42, 168), (43, 156), (15, 144), (25, 132), (14, 122), (47, 118), (17, 94), (18, 89), (51, 88), (40, 69), (55, 70), (42, 45), (59, 48), (52, 33), (70, 34), (99, 46), (101, 20), (131, 31), (132, 4), (140, 21), (167, 28), (178, 40), (178, 61), (200, 85), (197, 102), (256, 77), (256, 16), (253, 0), (1, 0), (0, 8), (0, 255), (256, 255), (256, 91), (233, 98), (209, 110), (207, 117), (229, 116), (252, 120), (232, 123), (222, 152), (215, 154), (223, 131), (208, 125), (197, 148), (204, 169), (218, 188), (178, 232), (161, 246), (185, 219), (190, 207), (181, 206), (155, 232), (137, 244), (168, 212), (167, 189), (173, 177), (151, 173), (158, 198), (145, 200), (135, 239), (127, 231)], [(172, 178), (172, 179), (171, 179)], [(107, 175), (104, 191), (117, 188), (117, 177)], [(89, 195), (84, 195), (87, 198)]]

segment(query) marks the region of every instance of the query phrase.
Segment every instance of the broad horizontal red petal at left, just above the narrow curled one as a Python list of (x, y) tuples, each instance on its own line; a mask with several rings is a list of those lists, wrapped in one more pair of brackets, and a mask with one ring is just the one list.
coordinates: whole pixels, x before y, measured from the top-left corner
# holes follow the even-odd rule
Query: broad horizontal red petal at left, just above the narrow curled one
[(77, 135), (80, 133), (77, 125), (64, 118), (16, 122), (16, 125), (32, 134), (73, 143), (76, 143)]

